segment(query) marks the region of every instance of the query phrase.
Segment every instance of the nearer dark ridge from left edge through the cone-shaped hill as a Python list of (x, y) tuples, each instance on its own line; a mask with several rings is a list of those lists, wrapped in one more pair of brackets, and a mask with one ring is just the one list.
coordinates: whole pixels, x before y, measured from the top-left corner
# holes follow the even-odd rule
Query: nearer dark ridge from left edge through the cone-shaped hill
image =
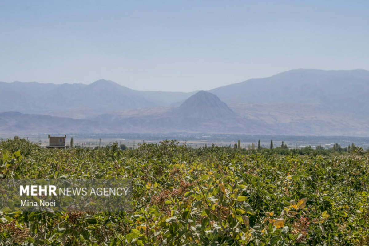
[(0, 113), (0, 133), (248, 133), (276, 134), (280, 129), (239, 117), (212, 93), (200, 91), (171, 112), (124, 117), (103, 114), (89, 120), (18, 112)]

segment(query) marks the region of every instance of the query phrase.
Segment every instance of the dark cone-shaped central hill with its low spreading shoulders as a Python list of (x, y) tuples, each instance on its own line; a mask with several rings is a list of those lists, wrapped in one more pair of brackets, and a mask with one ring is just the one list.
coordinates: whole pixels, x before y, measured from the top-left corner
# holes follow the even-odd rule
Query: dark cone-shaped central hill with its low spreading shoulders
[(262, 121), (239, 117), (212, 93), (200, 91), (190, 96), (179, 107), (155, 115), (124, 117), (104, 114), (94, 119), (109, 124), (121, 132), (209, 132), (272, 134), (274, 126)]

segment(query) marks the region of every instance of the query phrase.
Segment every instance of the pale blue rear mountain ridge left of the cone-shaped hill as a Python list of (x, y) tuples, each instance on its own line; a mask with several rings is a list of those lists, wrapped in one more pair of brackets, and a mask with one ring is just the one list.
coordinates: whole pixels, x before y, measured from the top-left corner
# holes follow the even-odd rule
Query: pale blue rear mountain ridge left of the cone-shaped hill
[(113, 81), (89, 85), (0, 82), (0, 112), (84, 118), (124, 109), (168, 106), (192, 93), (132, 90)]

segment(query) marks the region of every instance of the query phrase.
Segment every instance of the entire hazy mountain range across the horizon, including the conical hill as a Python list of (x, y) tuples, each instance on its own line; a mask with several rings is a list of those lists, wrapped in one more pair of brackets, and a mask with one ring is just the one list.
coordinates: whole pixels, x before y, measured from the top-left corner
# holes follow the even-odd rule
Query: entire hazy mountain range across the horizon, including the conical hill
[(369, 71), (362, 69), (295, 69), (208, 92), (139, 91), (105, 80), (90, 85), (0, 82), (0, 92), (0, 112), (20, 112), (0, 113), (2, 134), (369, 136)]

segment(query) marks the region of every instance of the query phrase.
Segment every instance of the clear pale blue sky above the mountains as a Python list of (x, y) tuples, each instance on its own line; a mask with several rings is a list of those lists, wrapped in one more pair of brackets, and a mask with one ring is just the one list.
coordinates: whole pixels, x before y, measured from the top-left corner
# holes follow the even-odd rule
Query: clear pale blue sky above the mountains
[(369, 1), (0, 1), (0, 81), (189, 92), (369, 70)]

